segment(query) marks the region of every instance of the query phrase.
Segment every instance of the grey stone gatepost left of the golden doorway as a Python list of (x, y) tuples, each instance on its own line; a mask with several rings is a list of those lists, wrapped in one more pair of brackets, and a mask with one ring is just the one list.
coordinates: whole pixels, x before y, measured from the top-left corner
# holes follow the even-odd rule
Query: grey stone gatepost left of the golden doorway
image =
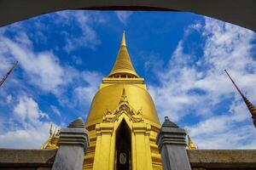
[(88, 145), (88, 132), (82, 118), (73, 121), (67, 128), (62, 128), (52, 170), (81, 170)]

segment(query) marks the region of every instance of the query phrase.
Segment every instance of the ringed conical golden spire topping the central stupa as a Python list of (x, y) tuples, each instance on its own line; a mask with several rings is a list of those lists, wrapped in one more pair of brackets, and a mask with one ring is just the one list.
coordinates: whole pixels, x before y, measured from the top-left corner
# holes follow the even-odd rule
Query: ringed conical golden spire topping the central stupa
[(126, 48), (125, 31), (123, 32), (119, 54), (108, 77), (139, 77), (131, 64), (131, 59)]

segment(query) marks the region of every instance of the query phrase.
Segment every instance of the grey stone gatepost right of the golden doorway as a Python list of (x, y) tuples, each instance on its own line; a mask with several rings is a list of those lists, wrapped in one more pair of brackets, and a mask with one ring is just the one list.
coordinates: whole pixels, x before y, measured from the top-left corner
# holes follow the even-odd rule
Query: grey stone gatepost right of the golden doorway
[(166, 116), (156, 139), (164, 170), (191, 170), (185, 137), (185, 130)]

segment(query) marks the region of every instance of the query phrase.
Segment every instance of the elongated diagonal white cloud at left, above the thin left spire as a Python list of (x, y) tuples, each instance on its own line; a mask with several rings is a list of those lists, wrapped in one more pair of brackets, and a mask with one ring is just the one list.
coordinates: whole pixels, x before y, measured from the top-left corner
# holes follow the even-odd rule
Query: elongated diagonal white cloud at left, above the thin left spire
[[(4, 36), (0, 37), (0, 39), (0, 47), (4, 49), (0, 52), (0, 58), (9, 61), (18, 60), (23, 71), (26, 71), (26, 76), (30, 77), (29, 80), (38, 85), (38, 87), (46, 91), (55, 92), (58, 86), (67, 83), (64, 80), (64, 71), (55, 54), (48, 51), (42, 53), (33, 52), (32, 42), (29, 39), (24, 39), (22, 42), (16, 42)], [(15, 39), (20, 38), (15, 37)]]

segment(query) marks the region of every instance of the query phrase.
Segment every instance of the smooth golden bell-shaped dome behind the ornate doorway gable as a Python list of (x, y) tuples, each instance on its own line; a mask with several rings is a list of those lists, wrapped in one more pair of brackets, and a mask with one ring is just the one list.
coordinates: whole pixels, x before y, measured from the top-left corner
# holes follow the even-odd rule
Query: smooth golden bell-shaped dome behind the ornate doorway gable
[(101, 88), (97, 92), (90, 105), (86, 127), (102, 122), (102, 117), (105, 116), (108, 110), (114, 111), (118, 107), (123, 89), (125, 89), (125, 95), (129, 104), (135, 111), (142, 111), (145, 121), (156, 125), (160, 124), (153, 99), (147, 90), (137, 85), (119, 83)]

